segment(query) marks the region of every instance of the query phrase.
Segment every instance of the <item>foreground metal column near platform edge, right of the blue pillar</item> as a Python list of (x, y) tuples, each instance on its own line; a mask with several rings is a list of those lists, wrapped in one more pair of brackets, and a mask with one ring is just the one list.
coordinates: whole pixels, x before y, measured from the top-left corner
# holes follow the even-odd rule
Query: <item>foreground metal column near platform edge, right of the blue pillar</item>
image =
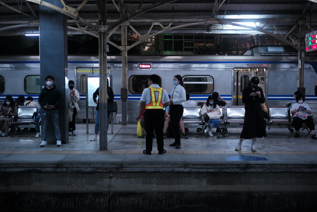
[[(98, 7), (98, 20), (100, 26), (105, 26), (107, 21), (106, 1), (96, 1)], [(107, 140), (107, 33), (99, 32), (99, 149), (108, 149)]]

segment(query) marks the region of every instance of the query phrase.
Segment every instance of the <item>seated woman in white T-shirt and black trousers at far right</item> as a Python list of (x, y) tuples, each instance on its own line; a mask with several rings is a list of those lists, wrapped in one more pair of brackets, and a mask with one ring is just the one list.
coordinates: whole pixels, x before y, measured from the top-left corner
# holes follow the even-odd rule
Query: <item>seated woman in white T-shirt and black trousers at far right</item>
[[(314, 120), (312, 117), (309, 116), (309, 114), (311, 113), (310, 107), (304, 102), (305, 101), (305, 97), (302, 93), (299, 93), (296, 95), (296, 103), (294, 103), (292, 105), (291, 108), (291, 112), (292, 115), (294, 115), (293, 117), (293, 126), (295, 128), (295, 135), (294, 138), (298, 138), (299, 137), (299, 129), (301, 128), (301, 125), (303, 123), (306, 124), (306, 126), (309, 128), (309, 130), (312, 132), (312, 139), (317, 139), (316, 134), (315, 134), (315, 124), (314, 124)], [(297, 116), (297, 112), (304, 112), (306, 113), (306, 117), (301, 117), (300, 115)], [(296, 114), (297, 113), (297, 114)]]

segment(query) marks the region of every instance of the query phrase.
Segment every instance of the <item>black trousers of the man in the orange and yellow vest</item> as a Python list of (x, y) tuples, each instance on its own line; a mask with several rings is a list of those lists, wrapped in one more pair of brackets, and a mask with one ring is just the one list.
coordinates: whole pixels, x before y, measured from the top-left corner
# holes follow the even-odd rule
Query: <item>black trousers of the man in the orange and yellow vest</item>
[(158, 151), (164, 150), (163, 127), (164, 127), (164, 110), (163, 109), (147, 109), (144, 113), (144, 124), (146, 132), (146, 152), (152, 151), (153, 131), (156, 132), (156, 143)]

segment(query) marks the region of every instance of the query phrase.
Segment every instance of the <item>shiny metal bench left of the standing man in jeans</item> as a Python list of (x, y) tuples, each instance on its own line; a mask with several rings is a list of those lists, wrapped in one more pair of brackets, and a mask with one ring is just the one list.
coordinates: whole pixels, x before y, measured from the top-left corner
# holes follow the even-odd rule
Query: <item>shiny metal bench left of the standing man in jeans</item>
[(35, 128), (35, 116), (37, 112), (36, 106), (19, 106), (18, 115), (12, 117), (12, 123), (14, 128)]

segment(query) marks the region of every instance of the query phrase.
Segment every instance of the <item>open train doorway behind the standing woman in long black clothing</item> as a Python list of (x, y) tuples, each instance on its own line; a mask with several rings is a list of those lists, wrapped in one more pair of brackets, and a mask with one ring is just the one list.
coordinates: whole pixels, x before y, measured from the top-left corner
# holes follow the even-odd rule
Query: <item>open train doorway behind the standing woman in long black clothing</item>
[(232, 85), (232, 105), (242, 106), (242, 92), (248, 86), (252, 77), (260, 79), (259, 86), (265, 93), (266, 70), (265, 68), (234, 68)]

